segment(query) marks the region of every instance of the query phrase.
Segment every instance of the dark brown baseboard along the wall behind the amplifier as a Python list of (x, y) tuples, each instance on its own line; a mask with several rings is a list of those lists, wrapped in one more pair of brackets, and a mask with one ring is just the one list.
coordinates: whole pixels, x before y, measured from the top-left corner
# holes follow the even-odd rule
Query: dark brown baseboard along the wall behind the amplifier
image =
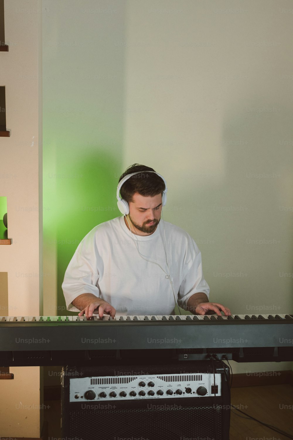
[[(289, 384), (293, 386), (292, 370), (239, 373), (239, 374), (233, 374), (233, 380), (232, 380), (232, 388), (241, 388), (247, 386), (280, 385), (280, 384)], [(60, 399), (61, 399), (61, 385), (44, 387), (44, 400), (60, 400)]]

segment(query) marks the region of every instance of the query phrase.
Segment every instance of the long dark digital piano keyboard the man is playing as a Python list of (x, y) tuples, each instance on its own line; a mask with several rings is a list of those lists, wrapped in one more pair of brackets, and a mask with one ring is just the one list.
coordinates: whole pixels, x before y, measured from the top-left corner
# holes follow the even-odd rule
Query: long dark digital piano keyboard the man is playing
[(293, 315), (0, 316), (0, 366), (132, 356), (292, 361)]

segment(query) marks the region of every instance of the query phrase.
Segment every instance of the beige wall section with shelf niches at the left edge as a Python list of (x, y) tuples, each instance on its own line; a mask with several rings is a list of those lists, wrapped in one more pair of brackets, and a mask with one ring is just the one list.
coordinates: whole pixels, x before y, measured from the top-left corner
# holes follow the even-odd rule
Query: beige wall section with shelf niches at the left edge
[[(6, 126), (11, 135), (0, 141), (0, 195), (7, 197), (8, 238), (12, 238), (11, 245), (0, 246), (0, 271), (7, 274), (3, 287), (8, 291), (8, 305), (7, 298), (1, 304), (4, 316), (42, 313), (41, 9), (41, 1), (37, 0), (4, 2), (5, 43), (9, 51), (0, 52), (0, 84), (5, 85)], [(10, 372), (14, 379), (0, 381), (1, 436), (40, 437), (40, 367), (10, 367)]]

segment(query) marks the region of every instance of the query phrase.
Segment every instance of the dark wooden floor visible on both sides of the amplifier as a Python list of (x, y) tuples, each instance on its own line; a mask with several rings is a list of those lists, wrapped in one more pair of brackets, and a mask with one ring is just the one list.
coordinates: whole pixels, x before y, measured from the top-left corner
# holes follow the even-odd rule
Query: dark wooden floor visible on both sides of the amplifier
[[(50, 407), (45, 411), (49, 438), (61, 438), (60, 402), (47, 400), (45, 404)], [(293, 436), (293, 387), (291, 385), (232, 388), (231, 405), (230, 440), (288, 440), (285, 435), (276, 433), (254, 420), (242, 418), (246, 416), (233, 409), (234, 406)]]

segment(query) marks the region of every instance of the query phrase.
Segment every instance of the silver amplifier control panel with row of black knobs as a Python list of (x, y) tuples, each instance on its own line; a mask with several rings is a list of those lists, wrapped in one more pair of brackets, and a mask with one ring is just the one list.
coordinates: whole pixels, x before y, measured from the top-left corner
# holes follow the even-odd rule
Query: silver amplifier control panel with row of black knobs
[(70, 402), (221, 396), (221, 374), (70, 378)]

